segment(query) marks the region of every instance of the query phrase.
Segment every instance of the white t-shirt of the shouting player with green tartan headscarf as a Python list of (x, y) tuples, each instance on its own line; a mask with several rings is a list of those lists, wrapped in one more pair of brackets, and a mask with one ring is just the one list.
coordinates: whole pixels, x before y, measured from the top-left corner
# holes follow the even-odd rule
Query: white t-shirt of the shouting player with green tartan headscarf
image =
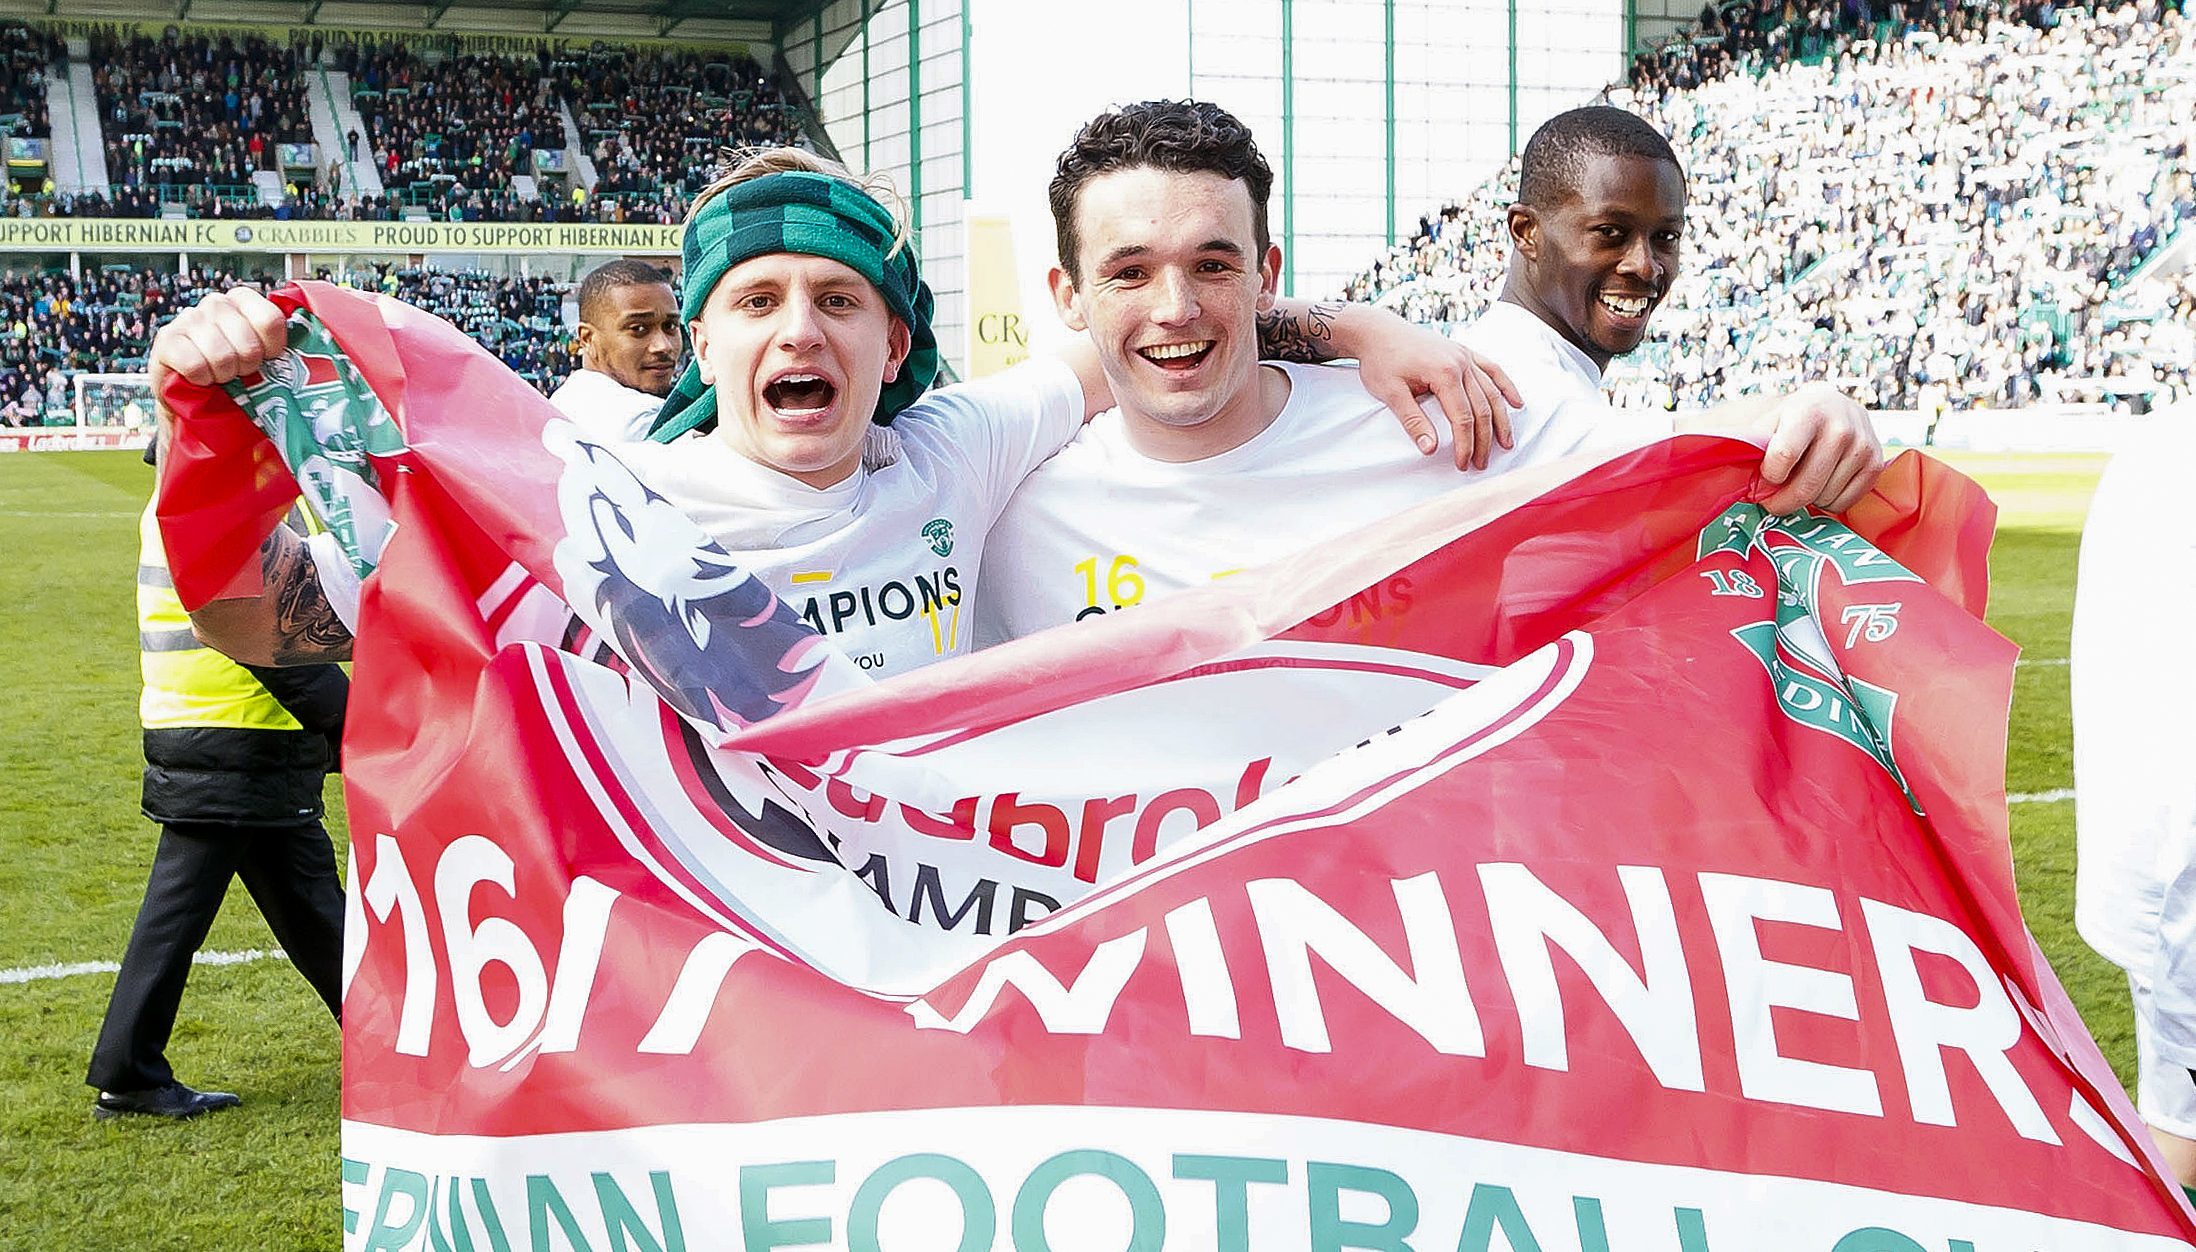
[(1056, 360), (946, 387), (872, 433), (843, 483), (810, 488), (687, 435), (619, 459), (872, 677), (973, 648), (977, 571), (1008, 494), (1083, 426)]

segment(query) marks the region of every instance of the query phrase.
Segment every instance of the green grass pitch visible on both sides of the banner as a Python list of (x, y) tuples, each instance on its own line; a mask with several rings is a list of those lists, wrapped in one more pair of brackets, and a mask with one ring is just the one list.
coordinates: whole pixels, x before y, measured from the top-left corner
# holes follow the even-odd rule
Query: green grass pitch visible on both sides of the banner
[[(1954, 463), (1998, 499), (1990, 619), (2029, 661), (2007, 791), (2071, 786), (2066, 626), (2104, 459)], [(136, 452), (0, 457), (0, 971), (116, 960), (136, 914), (154, 848), (132, 611), (149, 490)], [(2073, 804), (2016, 804), (2012, 828), (2029, 927), (2126, 1078), (2126, 986), (2073, 931)], [(206, 947), (274, 942), (235, 890)], [(0, 1248), (336, 1248), (340, 1046), (303, 980), (279, 960), (191, 975), (176, 1070), (246, 1103), (184, 1125), (92, 1120), (83, 1063), (112, 982), (0, 982)]]

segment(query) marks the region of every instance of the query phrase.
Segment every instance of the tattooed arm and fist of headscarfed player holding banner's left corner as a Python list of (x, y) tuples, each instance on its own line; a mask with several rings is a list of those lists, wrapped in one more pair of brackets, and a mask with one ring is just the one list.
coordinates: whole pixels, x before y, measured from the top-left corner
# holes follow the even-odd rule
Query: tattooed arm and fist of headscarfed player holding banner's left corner
[[(285, 334), (281, 310), (250, 288), (209, 294), (176, 314), (154, 336), (149, 356), (160, 439), (167, 441), (173, 426), (173, 415), (158, 404), (169, 373), (198, 387), (220, 387), (279, 356), (288, 347)], [(202, 644), (246, 666), (351, 659), (351, 630), (327, 602), (299, 534), (274, 527), (259, 547), (259, 595), (213, 600), (191, 613)]]

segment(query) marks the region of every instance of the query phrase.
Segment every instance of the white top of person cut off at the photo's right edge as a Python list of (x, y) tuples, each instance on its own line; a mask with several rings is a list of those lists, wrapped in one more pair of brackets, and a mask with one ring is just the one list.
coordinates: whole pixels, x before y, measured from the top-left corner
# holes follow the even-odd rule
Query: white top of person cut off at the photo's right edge
[(2088, 947), (2150, 984), (2161, 1043), (2178, 1037), (2181, 1057), (2196, 1057), (2196, 532), (2183, 518), (2196, 433), (2159, 426), (2113, 457), (2082, 525), (2073, 918)]

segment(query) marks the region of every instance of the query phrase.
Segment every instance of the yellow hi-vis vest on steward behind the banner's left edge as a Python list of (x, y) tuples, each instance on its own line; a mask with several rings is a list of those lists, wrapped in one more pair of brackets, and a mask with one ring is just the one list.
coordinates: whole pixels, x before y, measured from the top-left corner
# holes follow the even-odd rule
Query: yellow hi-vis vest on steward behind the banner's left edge
[(206, 648), (176, 597), (152, 503), (138, 518), (138, 720), (145, 729), (305, 729), (244, 666)]

